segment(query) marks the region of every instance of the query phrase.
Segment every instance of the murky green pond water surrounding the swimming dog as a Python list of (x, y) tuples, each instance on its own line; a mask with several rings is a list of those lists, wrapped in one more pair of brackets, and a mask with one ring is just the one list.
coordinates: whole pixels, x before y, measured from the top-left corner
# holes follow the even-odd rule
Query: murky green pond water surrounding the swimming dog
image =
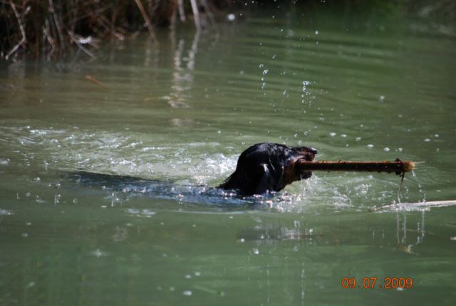
[(280, 142), (414, 160), (400, 201), (456, 199), (455, 32), (314, 9), (1, 63), (1, 305), (452, 305), (455, 207), (372, 212), (398, 201), (394, 174), (211, 188)]

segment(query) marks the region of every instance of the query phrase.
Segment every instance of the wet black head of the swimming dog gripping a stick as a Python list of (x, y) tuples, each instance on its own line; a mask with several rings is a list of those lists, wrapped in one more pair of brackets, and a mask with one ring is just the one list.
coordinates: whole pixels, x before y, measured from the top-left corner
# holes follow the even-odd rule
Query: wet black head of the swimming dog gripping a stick
[(313, 161), (316, 153), (316, 149), (308, 147), (254, 144), (242, 152), (236, 171), (218, 188), (237, 189), (244, 196), (280, 191), (294, 181), (312, 176), (312, 172), (301, 172), (295, 165), (302, 159)]

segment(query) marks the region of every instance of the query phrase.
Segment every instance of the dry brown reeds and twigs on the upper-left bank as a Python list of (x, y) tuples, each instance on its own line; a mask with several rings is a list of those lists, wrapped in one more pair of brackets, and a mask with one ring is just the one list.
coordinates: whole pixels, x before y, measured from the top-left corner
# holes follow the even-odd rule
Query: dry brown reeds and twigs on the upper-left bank
[[(75, 48), (95, 57), (101, 39), (123, 41), (156, 26), (210, 20), (232, 0), (0, 0), (0, 58), (28, 54), (52, 58)], [(178, 18), (177, 18), (178, 16)]]

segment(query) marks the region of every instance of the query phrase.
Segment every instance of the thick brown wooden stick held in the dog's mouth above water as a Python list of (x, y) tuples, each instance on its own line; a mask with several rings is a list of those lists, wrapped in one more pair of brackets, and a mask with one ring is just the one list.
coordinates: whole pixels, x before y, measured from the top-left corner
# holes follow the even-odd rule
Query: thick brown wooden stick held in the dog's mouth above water
[(332, 162), (323, 160), (309, 162), (301, 159), (297, 165), (301, 171), (360, 171), (360, 172), (388, 172), (401, 174), (415, 169), (414, 162), (403, 162), (396, 159), (394, 162)]

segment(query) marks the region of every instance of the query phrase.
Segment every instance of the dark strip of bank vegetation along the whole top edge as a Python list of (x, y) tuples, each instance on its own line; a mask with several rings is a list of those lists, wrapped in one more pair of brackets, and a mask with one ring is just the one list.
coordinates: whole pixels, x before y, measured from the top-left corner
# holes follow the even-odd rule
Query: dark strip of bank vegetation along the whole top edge
[(75, 49), (95, 58), (100, 41), (125, 41), (140, 31), (148, 31), (150, 39), (159, 43), (157, 27), (182, 23), (200, 31), (222, 18), (233, 21), (233, 11), (325, 3), (341, 9), (370, 6), (391, 13), (412, 12), (451, 23), (456, 19), (453, 0), (0, 0), (0, 60), (18, 56), (49, 60)]

